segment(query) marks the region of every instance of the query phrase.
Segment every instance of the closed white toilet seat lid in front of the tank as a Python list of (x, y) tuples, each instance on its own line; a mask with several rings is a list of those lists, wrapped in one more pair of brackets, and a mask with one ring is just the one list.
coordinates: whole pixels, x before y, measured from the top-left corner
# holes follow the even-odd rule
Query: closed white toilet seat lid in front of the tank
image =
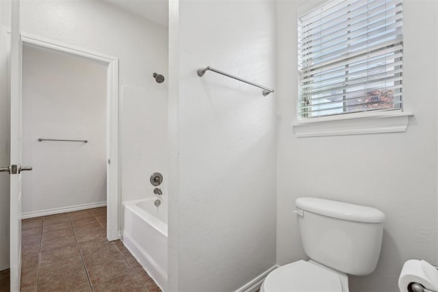
[(264, 292), (342, 292), (341, 279), (336, 271), (308, 261), (283, 265), (266, 277)]

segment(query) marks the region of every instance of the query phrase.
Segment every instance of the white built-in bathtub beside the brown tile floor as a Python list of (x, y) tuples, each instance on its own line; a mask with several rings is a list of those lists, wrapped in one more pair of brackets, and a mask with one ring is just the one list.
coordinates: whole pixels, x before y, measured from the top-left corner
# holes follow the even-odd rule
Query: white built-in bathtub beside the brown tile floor
[(167, 206), (155, 207), (154, 201), (155, 198), (150, 198), (123, 204), (123, 243), (149, 276), (166, 291)]

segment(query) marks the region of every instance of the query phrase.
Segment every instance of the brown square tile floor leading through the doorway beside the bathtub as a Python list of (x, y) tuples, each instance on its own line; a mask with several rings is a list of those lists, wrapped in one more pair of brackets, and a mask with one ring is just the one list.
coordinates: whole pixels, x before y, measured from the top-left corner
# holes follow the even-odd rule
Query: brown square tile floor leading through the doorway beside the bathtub
[(161, 291), (105, 229), (106, 207), (23, 220), (21, 291)]

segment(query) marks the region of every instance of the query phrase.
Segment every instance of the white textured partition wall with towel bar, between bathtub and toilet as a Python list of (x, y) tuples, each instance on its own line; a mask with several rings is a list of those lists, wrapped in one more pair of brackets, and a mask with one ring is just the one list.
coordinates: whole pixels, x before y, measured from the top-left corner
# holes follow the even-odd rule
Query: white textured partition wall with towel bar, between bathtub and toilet
[(179, 27), (170, 27), (170, 43), (179, 38), (172, 94), (179, 90), (170, 97), (179, 165), (170, 180), (179, 189), (170, 204), (169, 287), (234, 291), (276, 263), (276, 95), (214, 72), (200, 78), (196, 69), (273, 87), (275, 2), (182, 0)]

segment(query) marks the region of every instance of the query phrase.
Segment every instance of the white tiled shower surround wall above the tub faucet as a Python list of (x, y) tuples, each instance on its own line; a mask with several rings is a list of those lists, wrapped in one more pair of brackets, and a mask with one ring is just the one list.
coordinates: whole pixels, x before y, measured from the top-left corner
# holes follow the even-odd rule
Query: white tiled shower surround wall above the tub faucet
[[(151, 79), (152, 75), (151, 75)], [(153, 83), (150, 90), (130, 86), (122, 88), (120, 121), (123, 148), (123, 200), (159, 198), (160, 209), (167, 209), (167, 90), (164, 83)], [(158, 187), (163, 195), (153, 193), (149, 177), (154, 172), (163, 174)]]

